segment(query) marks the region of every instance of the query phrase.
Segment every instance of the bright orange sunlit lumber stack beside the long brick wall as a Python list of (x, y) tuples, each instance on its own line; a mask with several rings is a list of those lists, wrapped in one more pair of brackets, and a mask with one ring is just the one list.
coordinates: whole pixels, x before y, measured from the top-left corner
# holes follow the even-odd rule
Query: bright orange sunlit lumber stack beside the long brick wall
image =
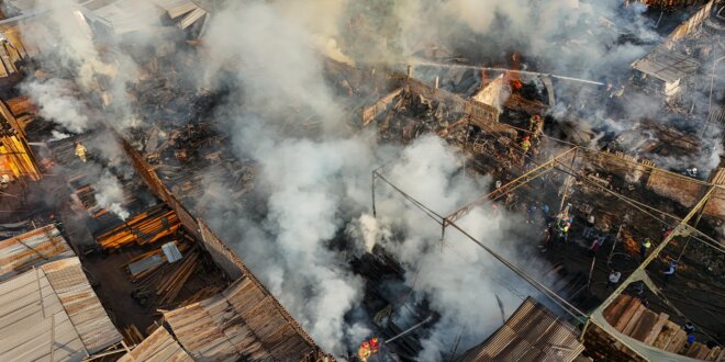
[(179, 227), (181, 224), (176, 213), (160, 205), (102, 233), (97, 240), (105, 249), (118, 249), (134, 242), (145, 245), (158, 241), (176, 234)]

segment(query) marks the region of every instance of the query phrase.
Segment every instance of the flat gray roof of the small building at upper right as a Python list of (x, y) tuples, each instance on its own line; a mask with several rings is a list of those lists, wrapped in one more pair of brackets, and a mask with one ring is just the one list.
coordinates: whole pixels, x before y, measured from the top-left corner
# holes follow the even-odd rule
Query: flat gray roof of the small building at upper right
[(644, 58), (633, 63), (632, 67), (659, 80), (673, 82), (694, 76), (700, 69), (700, 61), (682, 53), (659, 46)]

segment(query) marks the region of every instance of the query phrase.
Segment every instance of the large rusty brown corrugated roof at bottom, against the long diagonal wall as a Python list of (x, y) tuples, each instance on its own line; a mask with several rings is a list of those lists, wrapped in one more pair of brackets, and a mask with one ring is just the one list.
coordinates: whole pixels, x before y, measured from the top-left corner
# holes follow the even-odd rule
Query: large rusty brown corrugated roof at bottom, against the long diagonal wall
[(164, 313), (194, 360), (299, 360), (312, 350), (249, 278), (205, 301)]

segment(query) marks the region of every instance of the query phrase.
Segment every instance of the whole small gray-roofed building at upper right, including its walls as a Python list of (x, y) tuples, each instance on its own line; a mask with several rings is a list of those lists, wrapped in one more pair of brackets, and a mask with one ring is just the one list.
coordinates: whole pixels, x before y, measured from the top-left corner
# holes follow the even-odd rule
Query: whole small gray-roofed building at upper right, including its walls
[(678, 102), (692, 88), (691, 81), (700, 70), (700, 61), (676, 50), (658, 46), (644, 58), (632, 64), (634, 81), (663, 94), (665, 101)]

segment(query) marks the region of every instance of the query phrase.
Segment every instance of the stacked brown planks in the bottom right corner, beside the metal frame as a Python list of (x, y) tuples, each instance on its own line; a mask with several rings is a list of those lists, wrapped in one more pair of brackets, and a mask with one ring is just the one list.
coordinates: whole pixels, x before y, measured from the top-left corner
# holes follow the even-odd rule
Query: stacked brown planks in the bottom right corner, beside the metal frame
[[(706, 361), (725, 358), (725, 351), (720, 347), (711, 350), (700, 342), (685, 347), (688, 336), (681, 326), (669, 320), (669, 315), (665, 313), (649, 310), (639, 298), (631, 295), (620, 295), (614, 299), (604, 310), (604, 318), (620, 332), (668, 352)], [(618, 342), (615, 344), (621, 350), (626, 349)]]

